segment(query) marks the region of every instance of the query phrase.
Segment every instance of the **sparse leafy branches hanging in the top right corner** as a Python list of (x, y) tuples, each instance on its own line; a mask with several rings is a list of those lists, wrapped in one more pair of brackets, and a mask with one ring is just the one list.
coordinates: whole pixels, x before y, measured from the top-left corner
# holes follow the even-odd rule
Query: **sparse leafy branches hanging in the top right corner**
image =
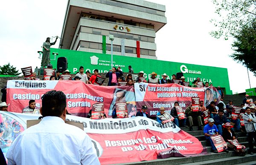
[(212, 0), (217, 19), (211, 22), (218, 29), (211, 31), (212, 37), (233, 37), (256, 18), (256, 0)]

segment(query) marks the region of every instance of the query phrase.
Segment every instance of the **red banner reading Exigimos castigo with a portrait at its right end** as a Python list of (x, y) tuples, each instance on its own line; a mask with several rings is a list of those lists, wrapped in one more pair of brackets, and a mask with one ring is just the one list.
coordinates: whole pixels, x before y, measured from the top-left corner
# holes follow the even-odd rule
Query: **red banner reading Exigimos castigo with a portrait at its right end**
[(7, 82), (8, 111), (22, 112), (35, 100), (37, 107), (41, 107), (41, 96), (47, 91), (63, 91), (67, 97), (67, 110), (70, 114), (87, 117), (92, 105), (104, 102), (107, 117), (112, 116), (116, 102), (126, 102), (128, 116), (136, 114), (135, 94), (133, 86), (99, 86), (85, 84), (82, 81), (28, 81), (9, 80)]

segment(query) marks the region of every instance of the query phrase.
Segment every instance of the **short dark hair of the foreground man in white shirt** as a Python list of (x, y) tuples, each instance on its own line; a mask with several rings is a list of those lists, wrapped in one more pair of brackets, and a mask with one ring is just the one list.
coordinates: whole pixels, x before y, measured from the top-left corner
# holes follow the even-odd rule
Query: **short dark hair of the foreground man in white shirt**
[(43, 117), (60, 117), (67, 106), (66, 95), (62, 91), (48, 91), (41, 99)]

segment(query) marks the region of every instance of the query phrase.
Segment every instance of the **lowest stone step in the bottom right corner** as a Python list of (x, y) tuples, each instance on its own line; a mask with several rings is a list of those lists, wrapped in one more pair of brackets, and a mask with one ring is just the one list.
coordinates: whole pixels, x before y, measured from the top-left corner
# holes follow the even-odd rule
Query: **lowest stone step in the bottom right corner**
[[(224, 165), (234, 165), (234, 164), (240, 164), (244, 162), (253, 162), (256, 161), (255, 155), (247, 154), (245, 156), (228, 156), (225, 158), (220, 159), (212, 159), (212, 160), (206, 160), (206, 161), (200, 161), (200, 162), (193, 162), (193, 163), (186, 163), (186, 165), (216, 165), (218, 163), (224, 164)], [(184, 163), (183, 163), (184, 164)], [(182, 164), (180, 164), (182, 165)]]

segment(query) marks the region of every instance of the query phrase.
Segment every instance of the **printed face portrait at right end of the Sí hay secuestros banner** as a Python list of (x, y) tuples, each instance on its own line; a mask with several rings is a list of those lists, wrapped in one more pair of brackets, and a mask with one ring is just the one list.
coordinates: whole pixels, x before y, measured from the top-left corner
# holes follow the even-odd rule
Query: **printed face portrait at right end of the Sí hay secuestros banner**
[(204, 96), (205, 107), (210, 105), (212, 101), (214, 101), (215, 105), (217, 105), (218, 102), (221, 100), (221, 95), (218, 93), (217, 89), (212, 86), (204, 89), (205, 89), (205, 96)]

